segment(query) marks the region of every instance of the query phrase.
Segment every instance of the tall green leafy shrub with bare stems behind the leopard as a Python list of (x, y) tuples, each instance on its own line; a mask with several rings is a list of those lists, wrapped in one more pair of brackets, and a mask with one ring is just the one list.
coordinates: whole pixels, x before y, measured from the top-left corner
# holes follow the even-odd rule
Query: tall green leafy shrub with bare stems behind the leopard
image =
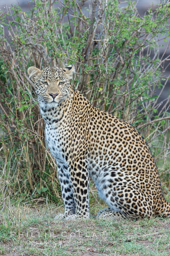
[(169, 78), (163, 76), (168, 47), (159, 58), (160, 42), (169, 37), (169, 1), (143, 17), (133, 1), (122, 7), (117, 0), (94, 0), (89, 9), (84, 8), (84, 0), (55, 2), (57, 8), (52, 1), (39, 0), (27, 13), (14, 5), (1, 14), (2, 203), (7, 194), (31, 195), (32, 200), (59, 197), (56, 164), (46, 151), (29, 66), (42, 69), (73, 63), (75, 89), (94, 106), (142, 132), (169, 186), (169, 97), (160, 102)]

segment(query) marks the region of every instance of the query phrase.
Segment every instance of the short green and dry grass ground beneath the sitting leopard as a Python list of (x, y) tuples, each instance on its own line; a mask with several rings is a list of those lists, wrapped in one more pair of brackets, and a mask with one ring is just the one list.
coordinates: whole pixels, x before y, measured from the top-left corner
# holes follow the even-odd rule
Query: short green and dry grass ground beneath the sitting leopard
[[(1, 255), (157, 255), (170, 254), (170, 219), (97, 220), (106, 205), (90, 189), (90, 220), (55, 221), (63, 205), (8, 199), (0, 215)], [(170, 197), (167, 199), (170, 200)]]

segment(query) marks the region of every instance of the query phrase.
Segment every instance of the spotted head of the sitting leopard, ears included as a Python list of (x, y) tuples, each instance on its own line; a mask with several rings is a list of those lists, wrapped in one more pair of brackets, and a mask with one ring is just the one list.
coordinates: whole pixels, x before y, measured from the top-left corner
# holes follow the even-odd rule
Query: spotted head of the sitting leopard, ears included
[(71, 64), (68, 67), (46, 67), (43, 70), (29, 67), (29, 78), (34, 82), (35, 92), (41, 105), (60, 105), (62, 101), (70, 98), (72, 86), (70, 79), (75, 72)]

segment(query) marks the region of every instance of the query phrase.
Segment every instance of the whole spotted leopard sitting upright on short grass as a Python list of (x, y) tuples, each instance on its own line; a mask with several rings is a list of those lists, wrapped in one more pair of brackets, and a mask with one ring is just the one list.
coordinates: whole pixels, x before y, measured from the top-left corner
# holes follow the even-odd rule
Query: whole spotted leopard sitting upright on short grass
[(64, 213), (55, 220), (89, 219), (89, 179), (108, 205), (97, 219), (170, 217), (145, 139), (130, 123), (93, 106), (74, 89), (74, 73), (73, 64), (28, 68), (64, 201)]

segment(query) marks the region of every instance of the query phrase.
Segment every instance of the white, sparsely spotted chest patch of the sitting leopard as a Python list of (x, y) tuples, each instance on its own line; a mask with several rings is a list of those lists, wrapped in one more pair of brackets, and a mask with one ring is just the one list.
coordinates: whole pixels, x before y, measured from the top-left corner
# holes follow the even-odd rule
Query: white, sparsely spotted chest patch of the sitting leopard
[(56, 129), (56, 127), (46, 125), (45, 135), (49, 150), (57, 163), (67, 165), (65, 158), (66, 143), (63, 132)]

